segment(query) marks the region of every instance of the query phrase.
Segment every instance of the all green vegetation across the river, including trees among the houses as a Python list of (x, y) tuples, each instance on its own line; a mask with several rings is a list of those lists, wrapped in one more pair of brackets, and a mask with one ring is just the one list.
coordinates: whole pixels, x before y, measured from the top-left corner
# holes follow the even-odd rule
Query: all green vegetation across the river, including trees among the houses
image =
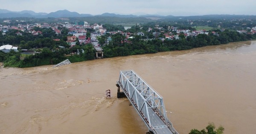
[[(141, 27), (148, 28), (150, 25), (156, 23), (142, 24)], [(124, 30), (122, 26), (116, 26), (113, 24), (105, 24), (108, 28), (115, 30)], [(180, 28), (186, 27), (189, 30), (194, 30), (191, 26), (178, 25)], [(133, 26), (126, 32), (136, 33), (143, 31), (139, 26)], [(0, 62), (3, 62), (5, 67), (33, 67), (42, 65), (57, 64), (65, 59), (69, 59), (71, 63), (81, 62), (85, 60), (95, 59), (95, 49), (91, 43), (79, 44), (69, 48), (67, 45), (67, 36), (69, 36), (68, 29), (65, 27), (58, 27), (61, 30), (61, 34), (56, 35), (52, 29), (47, 28), (34, 28), (36, 31), (40, 30), (43, 34), (33, 36), (30, 33), (22, 32), (23, 35), (16, 35), (17, 30), (9, 30), (7, 36), (0, 36), (1, 43), (16, 44), (22, 49), (31, 49), (35, 51), (35, 54), (25, 55), (20, 51), (10, 53), (4, 53), (0, 51)], [(144, 30), (145, 31), (145, 30)], [(157, 30), (156, 30), (157, 31)], [(215, 31), (216, 34), (211, 32)], [(92, 29), (87, 29), (87, 37), (90, 37), (90, 32), (94, 32)], [(175, 31), (172, 31), (175, 34)], [(176, 50), (188, 50), (192, 48), (198, 48), (209, 45), (226, 44), (230, 42), (246, 41), (256, 39), (254, 34), (240, 34), (235, 30), (212, 29), (208, 31), (209, 34), (198, 34), (197, 36), (187, 36), (179, 34), (178, 40), (160, 40), (159, 37), (164, 37), (160, 34), (159, 37), (153, 36), (153, 31), (145, 32), (145, 36), (134, 34), (133, 38), (128, 39), (130, 43), (125, 42), (125, 36), (120, 33), (117, 34), (105, 34), (98, 37), (99, 44), (104, 50), (104, 57), (118, 57), (128, 56), (135, 54), (151, 54), (163, 51), (176, 51)], [(111, 37), (111, 41), (107, 44), (107, 38)], [(52, 39), (60, 39), (55, 41)], [(59, 48), (58, 46), (64, 46), (66, 48)], [(84, 53), (82, 53), (82, 49)]]

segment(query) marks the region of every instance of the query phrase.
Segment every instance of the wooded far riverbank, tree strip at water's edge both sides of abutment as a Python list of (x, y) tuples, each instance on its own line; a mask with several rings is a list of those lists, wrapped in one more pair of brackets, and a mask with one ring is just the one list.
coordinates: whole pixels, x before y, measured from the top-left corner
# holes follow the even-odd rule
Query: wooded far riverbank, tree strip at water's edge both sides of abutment
[[(236, 38), (234, 38), (236, 36)], [(189, 50), (203, 46), (212, 46), (227, 44), (229, 42), (238, 42), (249, 40), (248, 34), (239, 34), (236, 31), (223, 31), (219, 36), (214, 34), (198, 34), (196, 37), (180, 36), (180, 40), (142, 40), (140, 36), (134, 37), (131, 43), (122, 43), (122, 34), (112, 35), (111, 43), (103, 46), (104, 57), (119, 57), (137, 54), (152, 54), (163, 51)], [(71, 63), (81, 62), (95, 59), (95, 50), (92, 45), (83, 46), (84, 54), (77, 54), (69, 57), (64, 56), (63, 50), (52, 51), (49, 48), (44, 48), (41, 53), (29, 55), (24, 60), (20, 59), (19, 53), (2, 58), (5, 67), (33, 67), (42, 65), (55, 65), (63, 60), (69, 59)]]

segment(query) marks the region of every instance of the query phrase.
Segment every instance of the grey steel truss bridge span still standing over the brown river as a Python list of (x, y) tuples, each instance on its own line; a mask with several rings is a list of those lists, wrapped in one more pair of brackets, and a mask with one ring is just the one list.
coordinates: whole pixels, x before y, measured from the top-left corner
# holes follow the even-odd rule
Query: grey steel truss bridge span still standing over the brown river
[(166, 115), (163, 97), (133, 70), (120, 71), (119, 87), (154, 134), (178, 134)]

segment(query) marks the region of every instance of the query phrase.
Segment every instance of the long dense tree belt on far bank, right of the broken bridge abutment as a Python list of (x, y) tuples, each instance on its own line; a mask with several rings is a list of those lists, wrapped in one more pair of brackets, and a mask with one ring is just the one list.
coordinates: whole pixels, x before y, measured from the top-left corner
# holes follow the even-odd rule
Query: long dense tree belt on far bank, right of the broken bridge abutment
[(143, 40), (141, 36), (134, 36), (132, 43), (125, 43), (125, 37), (122, 34), (112, 35), (112, 40), (108, 45), (103, 47), (105, 57), (127, 56), (135, 54), (157, 53), (161, 51), (187, 50), (209, 45), (226, 44), (230, 42), (238, 42), (250, 40), (255, 35), (239, 34), (236, 31), (214, 30), (218, 35), (210, 33), (198, 34), (198, 36), (185, 36), (180, 34), (180, 40)]

